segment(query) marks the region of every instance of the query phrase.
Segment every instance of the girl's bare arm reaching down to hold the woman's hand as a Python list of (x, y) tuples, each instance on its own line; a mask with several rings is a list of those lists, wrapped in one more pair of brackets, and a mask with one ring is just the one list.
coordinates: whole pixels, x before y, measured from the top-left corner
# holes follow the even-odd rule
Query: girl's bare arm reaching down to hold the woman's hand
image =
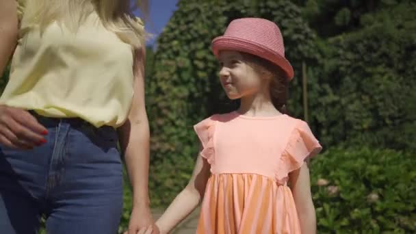
[(156, 222), (161, 233), (169, 233), (198, 206), (204, 196), (205, 186), (211, 174), (209, 168), (207, 160), (199, 154), (189, 183), (174, 198), (168, 209)]

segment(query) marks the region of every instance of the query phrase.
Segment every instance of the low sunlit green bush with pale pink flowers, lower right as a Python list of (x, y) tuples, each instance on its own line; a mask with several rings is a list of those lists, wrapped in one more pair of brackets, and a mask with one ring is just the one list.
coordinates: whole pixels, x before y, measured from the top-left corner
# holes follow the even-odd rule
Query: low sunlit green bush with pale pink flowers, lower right
[(369, 148), (313, 159), (318, 233), (416, 233), (415, 163), (411, 153)]

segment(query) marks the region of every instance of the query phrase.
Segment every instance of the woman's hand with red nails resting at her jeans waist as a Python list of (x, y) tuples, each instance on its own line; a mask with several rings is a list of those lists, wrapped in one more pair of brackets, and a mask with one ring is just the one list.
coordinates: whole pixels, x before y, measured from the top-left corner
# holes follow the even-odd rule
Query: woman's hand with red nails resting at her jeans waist
[(0, 144), (16, 149), (31, 149), (44, 144), (48, 131), (24, 109), (0, 105)]

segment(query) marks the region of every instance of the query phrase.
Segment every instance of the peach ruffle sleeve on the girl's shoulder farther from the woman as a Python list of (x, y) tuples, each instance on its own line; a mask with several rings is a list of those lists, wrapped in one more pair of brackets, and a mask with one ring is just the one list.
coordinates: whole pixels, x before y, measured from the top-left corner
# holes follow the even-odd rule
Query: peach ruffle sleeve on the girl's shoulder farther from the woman
[(305, 159), (320, 153), (322, 146), (313, 135), (306, 122), (301, 121), (296, 125), (281, 155), (276, 180), (284, 184), (290, 172), (300, 168)]

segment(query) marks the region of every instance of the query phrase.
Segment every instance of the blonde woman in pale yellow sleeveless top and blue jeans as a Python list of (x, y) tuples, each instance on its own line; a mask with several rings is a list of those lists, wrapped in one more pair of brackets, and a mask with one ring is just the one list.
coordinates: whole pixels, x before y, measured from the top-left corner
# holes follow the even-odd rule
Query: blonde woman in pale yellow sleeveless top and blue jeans
[(1, 233), (116, 233), (122, 163), (133, 185), (129, 233), (153, 225), (148, 201), (144, 29), (129, 0), (2, 0)]

